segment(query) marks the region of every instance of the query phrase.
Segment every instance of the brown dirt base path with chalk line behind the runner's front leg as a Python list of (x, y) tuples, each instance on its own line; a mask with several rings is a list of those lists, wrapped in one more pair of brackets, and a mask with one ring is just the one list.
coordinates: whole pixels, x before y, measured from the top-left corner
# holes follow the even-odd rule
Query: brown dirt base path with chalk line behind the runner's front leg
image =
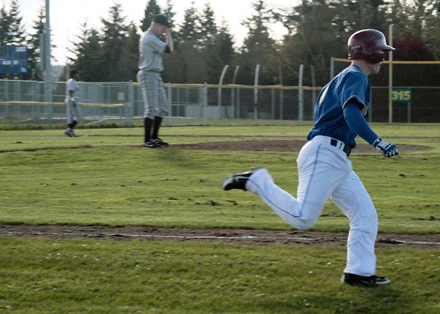
[[(150, 241), (200, 241), (250, 245), (302, 244), (346, 245), (347, 232), (252, 229), (191, 229), (155, 227), (111, 227), (0, 224), (0, 236), (52, 239), (95, 238), (116, 241), (134, 239)], [(439, 234), (378, 234), (378, 248), (440, 248)]]

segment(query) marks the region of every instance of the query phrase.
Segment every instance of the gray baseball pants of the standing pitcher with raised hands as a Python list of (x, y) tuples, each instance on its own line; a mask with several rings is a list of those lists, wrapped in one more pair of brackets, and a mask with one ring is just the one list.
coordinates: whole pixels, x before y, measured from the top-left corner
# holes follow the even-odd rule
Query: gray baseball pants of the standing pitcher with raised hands
[(156, 115), (166, 117), (168, 113), (167, 94), (160, 72), (140, 70), (137, 73), (137, 82), (141, 85), (144, 97), (144, 117), (151, 120)]

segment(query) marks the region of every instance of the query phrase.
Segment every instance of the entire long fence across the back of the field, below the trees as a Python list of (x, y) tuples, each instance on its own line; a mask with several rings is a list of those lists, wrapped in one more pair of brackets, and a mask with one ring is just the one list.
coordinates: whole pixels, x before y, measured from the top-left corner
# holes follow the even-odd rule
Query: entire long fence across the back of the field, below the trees
[[(80, 82), (79, 99), (86, 123), (119, 121), (131, 125), (144, 113), (137, 83)], [(209, 124), (224, 119), (312, 121), (322, 87), (246, 86), (165, 83), (168, 124)], [(411, 90), (411, 101), (393, 106), (393, 122), (440, 122), (440, 87), (393, 87)], [(46, 101), (45, 83), (0, 80), (0, 119), (17, 122), (65, 122), (65, 82), (53, 83)], [(373, 87), (370, 122), (387, 122), (388, 89)]]

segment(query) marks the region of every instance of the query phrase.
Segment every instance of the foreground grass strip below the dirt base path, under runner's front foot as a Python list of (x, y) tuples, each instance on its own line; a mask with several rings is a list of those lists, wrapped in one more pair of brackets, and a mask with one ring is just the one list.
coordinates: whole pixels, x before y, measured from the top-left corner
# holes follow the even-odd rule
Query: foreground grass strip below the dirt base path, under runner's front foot
[(5, 313), (439, 313), (439, 252), (378, 250), (378, 288), (341, 285), (342, 247), (0, 238)]

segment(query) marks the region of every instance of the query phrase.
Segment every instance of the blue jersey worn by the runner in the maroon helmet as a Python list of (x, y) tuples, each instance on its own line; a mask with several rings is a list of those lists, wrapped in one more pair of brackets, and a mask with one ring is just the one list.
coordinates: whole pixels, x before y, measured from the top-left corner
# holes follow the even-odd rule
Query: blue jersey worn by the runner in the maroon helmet
[(358, 66), (349, 66), (324, 86), (319, 93), (315, 106), (315, 126), (307, 139), (324, 135), (343, 141), (350, 148), (355, 148), (355, 134), (345, 122), (343, 108), (350, 99), (356, 99), (364, 108), (366, 116), (370, 104), (370, 81)]

